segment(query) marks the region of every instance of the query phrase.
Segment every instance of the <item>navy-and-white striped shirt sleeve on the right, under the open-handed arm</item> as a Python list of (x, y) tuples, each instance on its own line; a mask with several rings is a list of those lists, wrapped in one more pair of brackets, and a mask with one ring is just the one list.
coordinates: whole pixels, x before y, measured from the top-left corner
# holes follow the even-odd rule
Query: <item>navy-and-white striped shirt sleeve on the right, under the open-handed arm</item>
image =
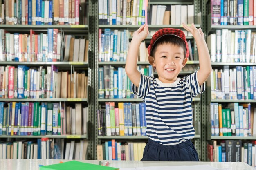
[(198, 71), (185, 77), (186, 85), (189, 88), (191, 98), (194, 98), (198, 94), (203, 93), (205, 90), (205, 82), (199, 86), (197, 73)]

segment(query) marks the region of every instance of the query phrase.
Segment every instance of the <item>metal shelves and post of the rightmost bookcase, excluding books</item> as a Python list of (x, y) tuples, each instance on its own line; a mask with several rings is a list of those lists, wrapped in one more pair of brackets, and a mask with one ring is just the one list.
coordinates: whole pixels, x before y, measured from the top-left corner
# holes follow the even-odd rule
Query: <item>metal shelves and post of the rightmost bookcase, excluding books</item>
[[(209, 36), (210, 34), (215, 34), (216, 30), (221, 30), (221, 32), (222, 32), (223, 29), (228, 29), (232, 32), (237, 31), (237, 30), (242, 30), (242, 31), (250, 30), (252, 32), (256, 31), (255, 25), (212, 25), (211, 24), (211, 13), (208, 12), (211, 9), (209, 9), (210, 5), (207, 5), (209, 3), (211, 3), (211, 0), (202, 0), (202, 6), (203, 6), (203, 8), (202, 8), (202, 11), (203, 11), (203, 18), (202, 18), (203, 23), (202, 23), (202, 25), (205, 26), (203, 30), (205, 32), (207, 32), (206, 36)], [(246, 41), (246, 39), (247, 38), (245, 37), (245, 41)], [(229, 47), (229, 48), (231, 48), (231, 47)], [(241, 50), (243, 50), (243, 49), (241, 49)], [(241, 58), (240, 58), (240, 60), (241, 60)], [(218, 70), (223, 69), (224, 66), (226, 66), (226, 65), (228, 65), (229, 70), (231, 70), (231, 69), (236, 69), (237, 66), (242, 66), (242, 69), (243, 69), (243, 67), (246, 67), (246, 66), (255, 66), (255, 63), (252, 63), (252, 62), (237, 62), (237, 61), (235, 61), (234, 63), (233, 62), (212, 62), (212, 69), (218, 69)], [(244, 78), (243, 74), (245, 75), (245, 73), (242, 73), (242, 78)], [(252, 76), (251, 74), (249, 74), (249, 75)], [(211, 140), (217, 140), (217, 145), (218, 145), (218, 141), (221, 142), (221, 141), (226, 141), (226, 140), (231, 140), (231, 141), (234, 140), (233, 145), (236, 145), (235, 144), (236, 141), (242, 140), (242, 144), (240, 145), (240, 147), (241, 146), (243, 147), (244, 143), (246, 143), (246, 142), (252, 143), (254, 140), (256, 140), (256, 138), (255, 138), (255, 136), (253, 136), (253, 134), (252, 134), (252, 136), (249, 136), (248, 134), (246, 134), (245, 136), (241, 136), (241, 135), (240, 136), (233, 136), (233, 134), (232, 134), (232, 136), (213, 136), (212, 135), (212, 133), (213, 133), (212, 132), (213, 131), (212, 124), (211, 124), (212, 123), (212, 121), (211, 121), (212, 117), (211, 117), (211, 114), (210, 114), (211, 113), (211, 103), (218, 103), (218, 104), (222, 105), (222, 119), (223, 119), (223, 109), (230, 108), (230, 106), (226, 107), (226, 105), (233, 104), (233, 103), (238, 103), (238, 105), (245, 105), (246, 103), (250, 103), (252, 107), (255, 107), (255, 102), (256, 101), (253, 100), (253, 99), (242, 99), (242, 100), (237, 100), (237, 99), (233, 99), (233, 100), (232, 99), (212, 99), (211, 98), (210, 79), (211, 78), (209, 78), (209, 80), (207, 81), (207, 93), (203, 95), (204, 99), (202, 99), (203, 100), (202, 105), (205, 106), (204, 111), (202, 111), (202, 114), (204, 115), (203, 119), (202, 119), (202, 127), (204, 127), (204, 128), (202, 128), (203, 129), (202, 136), (204, 136), (204, 141), (202, 143), (202, 146), (207, 147), (207, 142), (211, 142)], [(247, 91), (245, 91), (245, 93), (247, 93)], [(223, 107), (223, 105), (224, 105), (224, 107)], [(231, 108), (231, 110), (232, 109), (233, 108)], [(247, 107), (245, 107), (245, 106), (243, 107), (243, 109), (248, 110)], [(228, 119), (228, 118), (226, 118), (226, 119)], [(234, 119), (237, 119), (237, 118), (234, 118)], [(240, 117), (239, 117), (239, 119), (240, 119)], [(247, 116), (247, 119), (249, 119), (248, 116)], [(215, 121), (215, 119), (214, 119), (214, 121)], [(251, 123), (249, 123), (249, 124), (251, 124)], [(251, 125), (251, 127), (252, 126), (253, 125)], [(245, 133), (246, 133), (246, 131), (245, 131)], [(226, 146), (227, 146), (227, 143), (226, 143)], [(235, 146), (234, 146), (234, 149), (236, 150)], [(235, 150), (232, 150), (232, 152), (233, 151), (235, 152)], [(234, 153), (234, 155), (235, 154), (236, 153)], [(203, 158), (204, 158), (203, 161), (207, 161), (207, 151), (205, 151), (203, 153)], [(242, 158), (242, 160), (243, 160), (243, 158)]]

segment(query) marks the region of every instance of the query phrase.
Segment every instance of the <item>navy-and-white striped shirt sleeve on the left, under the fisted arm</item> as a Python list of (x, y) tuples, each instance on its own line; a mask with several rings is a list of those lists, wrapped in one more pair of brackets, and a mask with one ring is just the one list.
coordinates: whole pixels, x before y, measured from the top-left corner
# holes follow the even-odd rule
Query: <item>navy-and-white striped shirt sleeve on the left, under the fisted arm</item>
[(148, 95), (151, 78), (141, 73), (140, 75), (139, 87), (132, 83), (132, 93), (144, 99)]

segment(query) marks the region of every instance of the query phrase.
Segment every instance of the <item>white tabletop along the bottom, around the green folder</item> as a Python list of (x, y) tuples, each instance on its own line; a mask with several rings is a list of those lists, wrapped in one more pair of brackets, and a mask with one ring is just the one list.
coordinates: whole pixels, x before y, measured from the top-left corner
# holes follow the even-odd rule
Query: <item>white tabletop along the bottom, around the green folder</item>
[[(39, 170), (39, 165), (51, 165), (69, 160), (42, 159), (0, 159), (0, 170)], [(99, 164), (97, 160), (78, 160), (86, 163)], [(102, 161), (103, 163), (106, 161)], [(179, 165), (210, 165), (216, 168), (231, 168), (231, 170), (254, 170), (242, 162), (165, 162), (165, 161), (108, 161), (109, 166), (116, 168), (131, 168), (141, 166), (179, 166)]]

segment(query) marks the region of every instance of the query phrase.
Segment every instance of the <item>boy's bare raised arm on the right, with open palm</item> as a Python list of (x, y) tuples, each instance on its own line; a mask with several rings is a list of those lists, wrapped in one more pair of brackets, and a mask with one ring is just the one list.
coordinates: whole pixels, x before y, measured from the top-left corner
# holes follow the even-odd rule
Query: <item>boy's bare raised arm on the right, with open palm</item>
[(188, 25), (183, 24), (183, 27), (190, 31), (195, 38), (195, 42), (198, 48), (199, 54), (199, 70), (198, 70), (198, 83), (202, 85), (211, 74), (211, 58), (209, 54), (209, 50), (207, 48), (207, 44), (204, 40), (204, 33), (201, 28), (197, 29), (194, 24), (189, 27)]

